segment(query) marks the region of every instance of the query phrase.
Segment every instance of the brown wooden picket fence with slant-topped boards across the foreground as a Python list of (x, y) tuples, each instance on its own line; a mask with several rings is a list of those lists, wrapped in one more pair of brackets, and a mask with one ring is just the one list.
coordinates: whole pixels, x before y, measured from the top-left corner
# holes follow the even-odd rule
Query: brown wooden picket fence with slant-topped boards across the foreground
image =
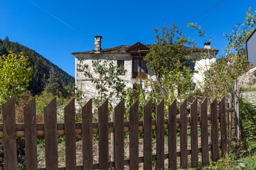
[[(82, 107), (82, 123), (75, 123), (75, 100), (65, 106), (65, 123), (57, 123), (56, 99), (44, 109), (44, 123), (36, 123), (36, 100), (33, 98), (24, 107), (24, 123), (17, 124), (15, 118), (14, 96), (3, 108), (3, 124), (0, 125), (0, 137), (4, 137), (5, 169), (17, 169), (16, 137), (25, 137), (26, 169), (38, 169), (37, 136), (45, 137), (45, 169), (152, 169), (153, 162), (161, 169), (168, 159), (169, 169), (177, 169), (178, 160), (181, 169), (188, 166), (197, 167), (200, 158), (203, 165), (209, 164), (210, 155), (213, 161), (228, 152), (228, 135), (226, 113), (234, 108), (225, 107), (225, 98), (219, 103), (216, 98), (210, 102), (208, 114), (207, 99), (198, 109), (196, 99), (187, 110), (187, 101), (180, 106), (180, 118), (177, 116), (176, 100), (169, 106), (168, 119), (164, 119), (164, 101), (156, 106), (156, 120), (152, 120), (152, 101), (149, 100), (143, 109), (143, 120), (139, 120), (138, 100), (129, 108), (129, 121), (124, 121), (124, 101), (114, 108), (114, 121), (109, 122), (108, 101), (98, 108), (98, 122), (92, 122), (92, 100)], [(190, 115), (188, 117), (188, 115)], [(210, 125), (210, 141), (208, 141)], [(179, 128), (180, 151), (177, 152), (177, 128)], [(168, 131), (168, 153), (164, 152), (164, 134)], [(198, 130), (201, 136), (201, 147), (198, 147)], [(156, 130), (156, 155), (152, 154), (152, 130)], [(191, 149), (188, 149), (188, 130), (191, 135)], [(139, 157), (139, 131), (143, 132), (143, 157)], [(114, 161), (109, 156), (109, 133), (114, 132)], [(129, 159), (124, 159), (124, 132), (129, 132)], [(99, 134), (99, 161), (93, 164), (92, 133)], [(82, 134), (82, 165), (76, 165), (75, 135)], [(58, 167), (57, 135), (65, 135), (65, 167)], [(220, 139), (220, 140), (219, 140)], [(221, 152), (220, 152), (221, 151)], [(211, 154), (209, 154), (209, 152)], [(199, 157), (201, 153), (201, 157)], [(191, 155), (191, 165), (188, 164)], [(179, 157), (179, 158), (178, 158)], [(177, 159), (178, 158), (178, 159)]]

